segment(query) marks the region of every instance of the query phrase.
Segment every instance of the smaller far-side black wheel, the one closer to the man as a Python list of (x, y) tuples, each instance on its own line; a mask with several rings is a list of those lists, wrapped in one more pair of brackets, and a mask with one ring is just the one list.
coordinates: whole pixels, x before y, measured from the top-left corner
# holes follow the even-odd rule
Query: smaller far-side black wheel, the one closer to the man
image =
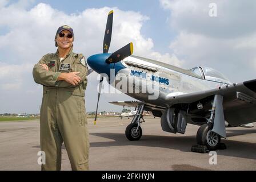
[(141, 139), (142, 129), (141, 129), (141, 126), (139, 126), (139, 129), (136, 132), (137, 127), (138, 127), (137, 123), (132, 123), (126, 127), (125, 135), (126, 135), (126, 138), (129, 139), (130, 141)]

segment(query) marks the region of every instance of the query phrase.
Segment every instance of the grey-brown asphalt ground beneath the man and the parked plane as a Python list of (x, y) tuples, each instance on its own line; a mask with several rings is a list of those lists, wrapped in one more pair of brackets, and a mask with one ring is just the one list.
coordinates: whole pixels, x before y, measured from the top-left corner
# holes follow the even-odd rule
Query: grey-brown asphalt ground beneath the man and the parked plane
[[(227, 150), (217, 151), (217, 164), (209, 154), (191, 152), (198, 126), (188, 125), (186, 134), (165, 133), (160, 119), (145, 117), (141, 140), (125, 137), (130, 119), (88, 119), (90, 170), (256, 170), (256, 127), (227, 129)], [(254, 123), (255, 125), (255, 123)], [(37, 160), (39, 121), (0, 123), (0, 170), (40, 170)], [(62, 170), (71, 170), (62, 147)]]

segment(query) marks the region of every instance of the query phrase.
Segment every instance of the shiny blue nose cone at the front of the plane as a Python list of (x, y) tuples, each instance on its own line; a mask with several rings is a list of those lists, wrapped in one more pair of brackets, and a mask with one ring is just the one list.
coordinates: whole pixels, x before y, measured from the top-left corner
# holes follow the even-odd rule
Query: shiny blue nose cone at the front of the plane
[(106, 59), (109, 58), (110, 53), (101, 53), (88, 57), (87, 63), (97, 73), (108, 73), (109, 64), (106, 63)]

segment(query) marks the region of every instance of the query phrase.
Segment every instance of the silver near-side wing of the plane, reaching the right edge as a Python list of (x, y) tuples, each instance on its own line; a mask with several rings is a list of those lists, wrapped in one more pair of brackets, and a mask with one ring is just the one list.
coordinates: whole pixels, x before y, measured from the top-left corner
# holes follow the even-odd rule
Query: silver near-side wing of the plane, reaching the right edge
[(256, 121), (256, 80), (179, 96), (167, 96), (166, 101), (169, 106), (192, 104), (207, 97), (213, 97), (215, 94), (223, 96), (225, 119), (233, 123), (232, 126), (240, 126)]

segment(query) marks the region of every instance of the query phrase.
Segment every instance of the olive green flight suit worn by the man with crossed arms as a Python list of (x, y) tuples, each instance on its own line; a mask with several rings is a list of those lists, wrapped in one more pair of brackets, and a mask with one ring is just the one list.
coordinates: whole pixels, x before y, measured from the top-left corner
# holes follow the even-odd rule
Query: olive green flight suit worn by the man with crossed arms
[[(49, 71), (39, 64), (48, 65)], [(66, 81), (57, 81), (62, 72), (80, 72), (81, 83), (74, 86)], [(57, 51), (43, 56), (34, 66), (34, 80), (43, 85), (40, 143), (41, 150), (46, 154), (46, 164), (42, 165), (42, 170), (61, 170), (63, 142), (71, 168), (89, 170), (89, 134), (84, 98), (87, 72), (85, 57), (73, 53), (72, 49), (61, 62)]]

